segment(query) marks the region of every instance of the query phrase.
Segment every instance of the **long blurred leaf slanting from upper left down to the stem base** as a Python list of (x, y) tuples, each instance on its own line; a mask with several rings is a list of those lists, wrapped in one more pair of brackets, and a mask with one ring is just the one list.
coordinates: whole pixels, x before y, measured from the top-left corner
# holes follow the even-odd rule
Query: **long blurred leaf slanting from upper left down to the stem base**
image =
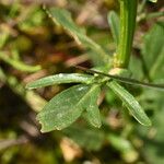
[(84, 33), (84, 30), (79, 27), (71, 17), (71, 14), (59, 8), (51, 8), (47, 10), (49, 16), (58, 24), (61, 25), (73, 38), (79, 43), (85, 46), (86, 48), (92, 49), (96, 55), (99, 61), (107, 63), (109, 61), (109, 56), (106, 51)]

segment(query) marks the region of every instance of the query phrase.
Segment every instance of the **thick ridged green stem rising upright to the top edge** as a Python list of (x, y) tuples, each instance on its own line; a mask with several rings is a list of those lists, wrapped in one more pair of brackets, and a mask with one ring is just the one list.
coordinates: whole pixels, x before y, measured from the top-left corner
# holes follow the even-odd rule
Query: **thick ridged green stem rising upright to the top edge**
[(136, 28), (138, 0), (120, 1), (120, 33), (115, 68), (128, 68)]

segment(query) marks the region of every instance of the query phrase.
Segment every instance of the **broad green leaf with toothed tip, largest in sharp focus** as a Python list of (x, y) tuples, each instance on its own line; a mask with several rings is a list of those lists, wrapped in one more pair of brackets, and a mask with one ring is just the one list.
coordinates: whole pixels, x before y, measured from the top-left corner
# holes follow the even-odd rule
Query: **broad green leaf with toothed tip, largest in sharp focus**
[(37, 116), (42, 124), (42, 132), (61, 130), (75, 121), (93, 91), (91, 85), (79, 84), (51, 98)]

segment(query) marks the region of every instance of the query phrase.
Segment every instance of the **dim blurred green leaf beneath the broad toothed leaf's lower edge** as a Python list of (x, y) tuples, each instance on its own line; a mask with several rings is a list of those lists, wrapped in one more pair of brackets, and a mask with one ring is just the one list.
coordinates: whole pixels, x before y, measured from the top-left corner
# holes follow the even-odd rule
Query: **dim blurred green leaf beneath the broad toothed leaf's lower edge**
[(90, 151), (99, 150), (105, 139), (102, 130), (84, 125), (72, 125), (69, 128), (63, 129), (63, 133), (80, 147)]

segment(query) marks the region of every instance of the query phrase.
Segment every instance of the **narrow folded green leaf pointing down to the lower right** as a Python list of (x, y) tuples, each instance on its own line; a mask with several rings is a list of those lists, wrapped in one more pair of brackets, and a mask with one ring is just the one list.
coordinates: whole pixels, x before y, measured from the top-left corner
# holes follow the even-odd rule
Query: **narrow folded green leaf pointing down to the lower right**
[(151, 126), (149, 117), (145, 115), (144, 110), (140, 104), (134, 99), (134, 97), (120, 86), (117, 82), (112, 81), (107, 83), (113, 92), (122, 101), (125, 106), (128, 108), (130, 114), (143, 126)]

